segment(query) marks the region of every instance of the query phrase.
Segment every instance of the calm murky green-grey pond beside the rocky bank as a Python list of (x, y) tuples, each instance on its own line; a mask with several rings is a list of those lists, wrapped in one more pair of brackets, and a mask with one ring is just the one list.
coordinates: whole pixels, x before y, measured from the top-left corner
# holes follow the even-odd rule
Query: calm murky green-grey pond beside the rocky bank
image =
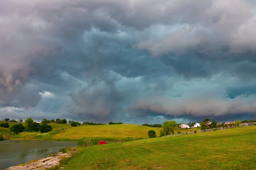
[(38, 140), (5, 140), (0, 142), (0, 170), (26, 163), (32, 159), (49, 157), (63, 147), (76, 147), (77, 142)]

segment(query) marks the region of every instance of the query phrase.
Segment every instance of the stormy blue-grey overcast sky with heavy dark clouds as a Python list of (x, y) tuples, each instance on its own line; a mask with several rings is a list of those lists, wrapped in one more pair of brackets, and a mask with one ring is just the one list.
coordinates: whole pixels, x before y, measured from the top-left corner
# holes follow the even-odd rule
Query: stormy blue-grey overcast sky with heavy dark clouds
[(253, 0), (0, 0), (0, 119), (255, 119)]

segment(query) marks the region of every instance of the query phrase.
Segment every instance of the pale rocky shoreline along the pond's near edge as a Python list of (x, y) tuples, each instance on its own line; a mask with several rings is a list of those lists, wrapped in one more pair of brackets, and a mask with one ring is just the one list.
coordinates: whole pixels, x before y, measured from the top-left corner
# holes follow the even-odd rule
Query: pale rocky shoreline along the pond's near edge
[[(48, 158), (40, 159), (34, 163), (30, 163), (29, 165), (9, 167), (6, 170), (45, 170), (46, 168), (51, 168), (59, 165), (61, 159), (69, 158), (71, 156), (72, 156), (71, 152), (69, 153), (60, 152), (55, 154), (55, 156), (50, 156)], [(59, 169), (64, 169), (64, 167)]]

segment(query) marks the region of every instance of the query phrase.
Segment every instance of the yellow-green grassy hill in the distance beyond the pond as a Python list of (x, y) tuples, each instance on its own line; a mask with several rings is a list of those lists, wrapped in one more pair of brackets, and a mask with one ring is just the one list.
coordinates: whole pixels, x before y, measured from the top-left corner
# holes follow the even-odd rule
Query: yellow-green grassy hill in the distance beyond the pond
[(72, 127), (55, 135), (55, 138), (81, 139), (83, 137), (102, 138), (147, 138), (148, 130), (155, 130), (160, 135), (161, 127), (147, 127), (141, 125), (83, 125)]

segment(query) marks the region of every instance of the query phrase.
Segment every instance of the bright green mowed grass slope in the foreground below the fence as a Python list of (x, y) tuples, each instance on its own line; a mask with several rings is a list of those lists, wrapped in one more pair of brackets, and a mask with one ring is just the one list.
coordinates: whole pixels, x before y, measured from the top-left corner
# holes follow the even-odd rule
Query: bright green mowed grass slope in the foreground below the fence
[(82, 148), (65, 170), (254, 170), (256, 126)]

